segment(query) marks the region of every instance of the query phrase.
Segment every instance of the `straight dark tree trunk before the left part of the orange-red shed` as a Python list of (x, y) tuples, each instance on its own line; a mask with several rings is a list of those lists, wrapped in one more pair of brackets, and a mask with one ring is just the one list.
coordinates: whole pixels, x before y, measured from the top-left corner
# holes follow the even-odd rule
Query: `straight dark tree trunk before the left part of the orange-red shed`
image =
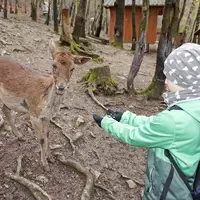
[(124, 3), (125, 0), (116, 0), (116, 22), (114, 27), (115, 41), (114, 45), (123, 48), (124, 32)]

